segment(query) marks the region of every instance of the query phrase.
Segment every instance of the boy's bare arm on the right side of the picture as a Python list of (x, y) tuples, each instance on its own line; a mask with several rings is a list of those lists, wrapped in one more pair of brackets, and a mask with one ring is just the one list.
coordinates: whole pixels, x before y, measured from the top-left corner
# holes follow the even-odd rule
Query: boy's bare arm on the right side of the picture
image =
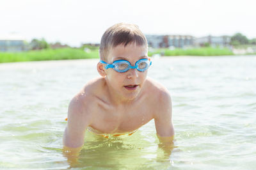
[(163, 143), (172, 142), (174, 128), (172, 123), (172, 100), (169, 93), (162, 91), (158, 102), (156, 116), (154, 118), (157, 136)]

